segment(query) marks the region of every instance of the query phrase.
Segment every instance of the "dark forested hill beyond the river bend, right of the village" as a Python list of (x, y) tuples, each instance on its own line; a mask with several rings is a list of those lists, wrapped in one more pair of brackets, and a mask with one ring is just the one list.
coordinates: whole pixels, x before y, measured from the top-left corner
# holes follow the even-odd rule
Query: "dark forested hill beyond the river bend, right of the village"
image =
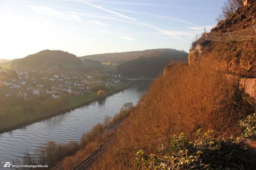
[(168, 50), (154, 57), (140, 56), (137, 59), (125, 61), (117, 66), (120, 74), (127, 77), (157, 77), (169, 62), (187, 62), (187, 53)]

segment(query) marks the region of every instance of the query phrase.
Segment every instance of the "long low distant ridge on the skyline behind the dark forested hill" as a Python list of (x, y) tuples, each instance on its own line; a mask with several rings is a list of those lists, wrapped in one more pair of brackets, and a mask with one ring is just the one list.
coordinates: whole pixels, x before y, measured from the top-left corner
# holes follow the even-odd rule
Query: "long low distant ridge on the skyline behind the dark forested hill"
[(83, 59), (91, 59), (100, 62), (108, 62), (108, 63), (122, 63), (124, 61), (129, 61), (132, 59), (136, 59), (140, 56), (144, 57), (155, 57), (162, 54), (172, 53), (173, 49), (162, 48), (162, 49), (154, 49), (154, 50), (144, 50), (144, 51), (135, 51), (135, 52), (123, 52), (123, 53), (106, 53), (106, 54), (95, 54), (89, 56), (78, 57), (81, 60)]

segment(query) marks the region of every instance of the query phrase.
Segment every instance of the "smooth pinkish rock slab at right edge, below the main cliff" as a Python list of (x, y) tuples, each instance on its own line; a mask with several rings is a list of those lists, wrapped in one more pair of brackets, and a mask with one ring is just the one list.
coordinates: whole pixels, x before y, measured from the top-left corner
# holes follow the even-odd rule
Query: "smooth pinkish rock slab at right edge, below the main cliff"
[(240, 89), (244, 89), (247, 94), (256, 100), (256, 78), (246, 79), (240, 81)]

